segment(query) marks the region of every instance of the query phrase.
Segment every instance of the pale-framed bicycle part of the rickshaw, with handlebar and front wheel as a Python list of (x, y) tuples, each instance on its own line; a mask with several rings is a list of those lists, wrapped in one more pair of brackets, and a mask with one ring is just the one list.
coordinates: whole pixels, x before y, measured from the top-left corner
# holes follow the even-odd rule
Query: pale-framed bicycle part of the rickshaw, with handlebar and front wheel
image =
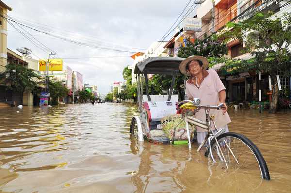
[[(221, 162), (226, 166), (226, 169), (245, 169), (245, 172), (253, 172), (258, 170), (257, 166), (259, 166), (261, 177), (263, 179), (270, 180), (270, 174), (266, 161), (264, 160), (258, 147), (250, 139), (239, 133), (224, 133), (224, 129), (217, 129), (214, 121), (215, 117), (212, 114), (209, 115), (209, 110), (219, 110), (223, 107), (223, 104), (218, 106), (200, 105), (200, 99), (195, 98), (194, 101), (184, 100), (180, 102), (178, 107), (180, 109), (192, 109), (196, 111), (199, 111), (200, 109), (205, 110), (205, 122), (196, 119), (194, 116), (188, 116), (186, 112), (183, 113), (182, 121), (185, 121), (186, 123), (189, 148), (191, 148), (189, 124), (193, 124), (208, 130), (205, 139), (197, 149), (198, 152), (207, 143), (204, 155), (206, 157), (210, 156), (213, 162)], [(176, 128), (182, 123), (182, 121), (174, 127), (172, 144), (174, 144)]]

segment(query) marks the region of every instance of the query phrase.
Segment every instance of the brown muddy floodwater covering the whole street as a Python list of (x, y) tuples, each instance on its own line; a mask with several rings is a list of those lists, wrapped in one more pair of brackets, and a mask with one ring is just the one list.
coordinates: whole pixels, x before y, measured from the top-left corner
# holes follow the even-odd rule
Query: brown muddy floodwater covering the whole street
[(0, 192), (290, 193), (291, 111), (229, 110), (229, 130), (260, 149), (271, 180), (237, 176), (187, 145), (138, 145), (136, 105), (0, 109)]

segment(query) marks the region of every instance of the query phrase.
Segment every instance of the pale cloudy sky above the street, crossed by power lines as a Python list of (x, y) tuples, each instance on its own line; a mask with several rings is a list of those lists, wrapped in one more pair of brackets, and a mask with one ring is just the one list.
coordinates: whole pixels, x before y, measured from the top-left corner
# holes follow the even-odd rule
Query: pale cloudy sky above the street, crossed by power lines
[[(50, 35), (22, 27), (27, 31), (24, 32), (26, 35), (31, 34), (46, 46), (42, 49), (49, 48), (56, 52), (55, 57), (64, 58), (63, 64), (83, 74), (83, 83), (97, 85), (101, 94), (110, 91), (113, 80), (123, 81), (122, 70), (133, 63), (131, 52), (145, 51), (152, 42), (161, 40), (189, 2), (189, 0), (2, 1), (12, 7), (12, 11), (8, 12), (12, 19), (48, 32)], [(21, 29), (17, 24), (14, 25)], [(75, 42), (85, 42), (94, 48), (72, 43), (67, 39), (64, 41), (56, 36)], [(169, 35), (165, 40), (171, 37)], [(9, 24), (7, 42), (8, 48), (14, 51), (16, 48), (30, 48), (34, 59), (48, 57), (47, 50), (33, 45)], [(99, 49), (100, 47), (102, 49)]]

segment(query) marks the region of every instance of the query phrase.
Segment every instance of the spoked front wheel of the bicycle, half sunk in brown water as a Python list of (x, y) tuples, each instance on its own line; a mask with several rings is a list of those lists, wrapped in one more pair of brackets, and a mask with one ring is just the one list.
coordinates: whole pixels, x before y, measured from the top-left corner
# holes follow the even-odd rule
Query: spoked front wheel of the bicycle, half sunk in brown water
[[(260, 175), (270, 180), (269, 170), (258, 147), (246, 136), (238, 133), (223, 133), (211, 141), (211, 150), (215, 162), (224, 164), (225, 168), (243, 173)], [(220, 148), (219, 148), (220, 146)], [(206, 156), (210, 155), (207, 151)]]

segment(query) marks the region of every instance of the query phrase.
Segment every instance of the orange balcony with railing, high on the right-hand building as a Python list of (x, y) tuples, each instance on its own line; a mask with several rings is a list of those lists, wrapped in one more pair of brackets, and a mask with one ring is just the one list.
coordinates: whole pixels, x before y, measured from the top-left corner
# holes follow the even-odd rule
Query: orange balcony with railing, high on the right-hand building
[(218, 31), (236, 17), (237, 0), (221, 0), (217, 5), (215, 5), (214, 30)]

